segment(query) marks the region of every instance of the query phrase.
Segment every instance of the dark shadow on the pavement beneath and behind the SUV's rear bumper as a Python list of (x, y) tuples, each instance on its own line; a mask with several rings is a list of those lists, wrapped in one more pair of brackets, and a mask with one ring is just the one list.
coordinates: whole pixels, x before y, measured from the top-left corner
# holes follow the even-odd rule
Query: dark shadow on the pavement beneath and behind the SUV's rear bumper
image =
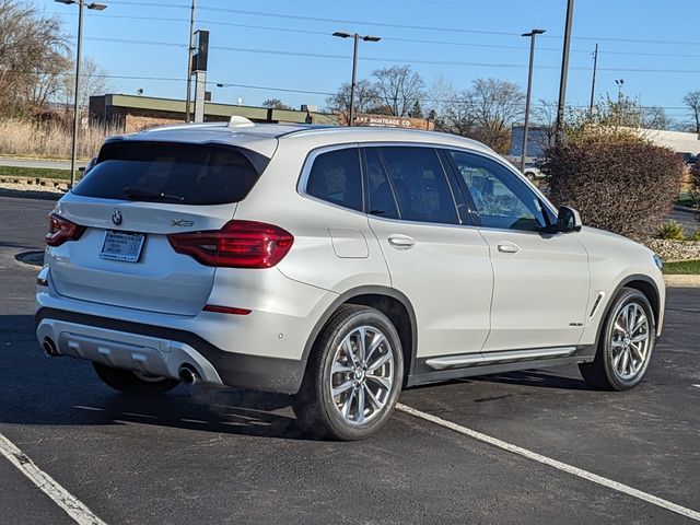
[(252, 436), (312, 440), (296, 425), (291, 396), (209, 385), (161, 396), (126, 396), (92, 365), (47, 358), (31, 315), (0, 315), (0, 423), (28, 425), (152, 424)]

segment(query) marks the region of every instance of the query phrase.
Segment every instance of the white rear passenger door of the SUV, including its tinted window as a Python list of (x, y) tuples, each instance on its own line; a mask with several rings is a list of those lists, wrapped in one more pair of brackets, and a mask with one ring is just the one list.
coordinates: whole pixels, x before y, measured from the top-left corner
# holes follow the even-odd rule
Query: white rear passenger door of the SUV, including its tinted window
[(457, 212), (462, 192), (448, 183), (433, 148), (361, 151), (370, 228), (392, 285), (416, 312), (419, 364), (429, 357), (479, 354), (489, 332), (493, 277), (487, 243), (468, 214)]

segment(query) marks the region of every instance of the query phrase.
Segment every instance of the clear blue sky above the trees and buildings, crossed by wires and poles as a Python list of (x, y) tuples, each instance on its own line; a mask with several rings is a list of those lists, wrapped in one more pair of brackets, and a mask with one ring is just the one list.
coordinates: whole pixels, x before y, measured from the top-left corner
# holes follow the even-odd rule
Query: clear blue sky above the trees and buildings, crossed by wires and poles
[[(35, 1), (75, 35), (75, 5)], [(150, 96), (184, 97), (189, 0), (101, 1), (108, 4), (105, 11), (85, 11), (84, 52), (112, 75), (139, 78), (112, 79), (113, 92), (143, 89)], [(442, 78), (459, 91), (474, 79), (494, 77), (525, 88), (528, 39), (520, 34), (534, 27), (547, 34), (538, 38), (533, 96), (558, 96), (565, 0), (197, 3), (196, 27), (211, 32), (208, 80), (215, 102), (241, 97), (258, 105), (278, 97), (323, 108), (323, 93), (335, 91), (351, 72), (352, 43), (331, 37), (334, 31), (383, 37), (361, 43), (359, 78), (409, 63), (429, 85)], [(682, 119), (682, 95), (700, 90), (697, 7), (695, 0), (578, 0), (567, 103), (587, 104), (597, 42), (596, 95), (616, 95), (615, 80), (623, 79), (627, 95)], [(154, 77), (172, 80), (148, 80)], [(265, 89), (222, 89), (217, 82)]]

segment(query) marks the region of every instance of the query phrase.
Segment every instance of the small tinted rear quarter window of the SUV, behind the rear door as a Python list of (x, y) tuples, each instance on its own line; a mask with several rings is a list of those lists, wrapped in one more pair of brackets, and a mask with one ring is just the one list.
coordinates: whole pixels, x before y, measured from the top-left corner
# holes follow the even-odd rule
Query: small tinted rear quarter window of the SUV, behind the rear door
[(306, 194), (326, 202), (362, 211), (362, 175), (358, 148), (318, 154), (306, 180)]

